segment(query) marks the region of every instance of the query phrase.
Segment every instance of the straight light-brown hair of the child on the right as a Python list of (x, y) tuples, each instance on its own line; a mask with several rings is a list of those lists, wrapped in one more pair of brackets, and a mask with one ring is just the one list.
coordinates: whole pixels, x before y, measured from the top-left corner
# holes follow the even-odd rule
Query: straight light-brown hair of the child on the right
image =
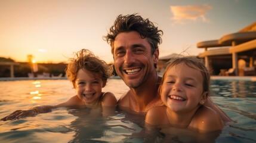
[[(203, 76), (203, 92), (209, 92), (209, 85), (210, 85), (210, 76), (211, 73), (209, 70), (205, 67), (205, 64), (203, 63), (202, 59), (197, 58), (195, 56), (187, 56), (187, 57), (174, 57), (171, 58), (166, 66), (165, 73), (167, 70), (171, 69), (171, 67), (176, 66), (177, 64), (184, 63), (187, 66), (191, 67), (192, 69), (199, 70)], [(165, 79), (165, 73), (163, 75), (162, 81), (159, 86), (159, 95), (161, 86)]]

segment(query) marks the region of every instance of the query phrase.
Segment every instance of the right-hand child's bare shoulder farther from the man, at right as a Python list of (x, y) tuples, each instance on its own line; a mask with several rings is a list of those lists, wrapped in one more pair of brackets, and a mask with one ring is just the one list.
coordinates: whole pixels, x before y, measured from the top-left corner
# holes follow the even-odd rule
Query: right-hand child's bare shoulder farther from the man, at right
[(202, 106), (198, 109), (190, 125), (199, 129), (199, 132), (221, 130), (224, 126), (220, 115), (209, 107)]

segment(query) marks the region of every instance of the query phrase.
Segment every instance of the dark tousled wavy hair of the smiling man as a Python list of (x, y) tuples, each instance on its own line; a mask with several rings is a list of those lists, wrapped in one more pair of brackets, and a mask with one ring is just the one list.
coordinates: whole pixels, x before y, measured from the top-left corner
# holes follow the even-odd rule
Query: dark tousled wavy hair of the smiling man
[(137, 14), (128, 14), (128, 15), (118, 15), (115, 20), (115, 23), (110, 27), (110, 31), (107, 36), (104, 36), (104, 40), (111, 46), (111, 52), (114, 53), (114, 42), (116, 36), (122, 32), (138, 32), (140, 33), (141, 38), (147, 38), (150, 43), (152, 55), (158, 49), (158, 44), (162, 43), (161, 35), (163, 34), (162, 30), (158, 30), (148, 18), (144, 19)]

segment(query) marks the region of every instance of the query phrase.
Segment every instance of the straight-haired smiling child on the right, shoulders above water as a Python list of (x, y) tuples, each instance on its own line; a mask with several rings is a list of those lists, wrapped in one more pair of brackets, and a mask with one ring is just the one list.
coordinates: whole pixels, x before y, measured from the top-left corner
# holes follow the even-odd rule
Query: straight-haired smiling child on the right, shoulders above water
[(165, 106), (150, 109), (146, 114), (146, 125), (171, 125), (197, 132), (221, 130), (224, 123), (219, 114), (204, 105), (209, 96), (209, 85), (210, 73), (199, 58), (172, 58), (159, 86)]

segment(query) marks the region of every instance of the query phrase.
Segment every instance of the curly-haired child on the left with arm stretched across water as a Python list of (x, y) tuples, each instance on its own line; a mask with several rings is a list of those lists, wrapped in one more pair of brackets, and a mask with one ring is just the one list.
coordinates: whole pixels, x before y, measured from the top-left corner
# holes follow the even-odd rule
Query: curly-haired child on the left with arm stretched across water
[(29, 110), (16, 110), (1, 120), (14, 120), (39, 113), (47, 113), (58, 107), (97, 108), (115, 107), (117, 100), (111, 92), (102, 92), (107, 79), (112, 75), (112, 68), (95, 57), (88, 49), (82, 49), (70, 58), (66, 68), (66, 76), (72, 82), (77, 95), (58, 105), (41, 105)]

